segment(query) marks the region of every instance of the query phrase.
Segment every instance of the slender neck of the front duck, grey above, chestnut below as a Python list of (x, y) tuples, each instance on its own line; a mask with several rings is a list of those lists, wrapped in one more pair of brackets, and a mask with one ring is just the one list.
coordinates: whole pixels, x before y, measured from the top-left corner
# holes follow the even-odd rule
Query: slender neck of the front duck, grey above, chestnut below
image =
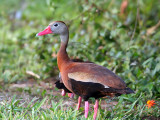
[(58, 63), (58, 68), (61, 72), (62, 66), (66, 65), (67, 62), (69, 62), (70, 60), (66, 51), (69, 40), (69, 32), (60, 35), (60, 38), (61, 38), (61, 46), (57, 55), (57, 63)]

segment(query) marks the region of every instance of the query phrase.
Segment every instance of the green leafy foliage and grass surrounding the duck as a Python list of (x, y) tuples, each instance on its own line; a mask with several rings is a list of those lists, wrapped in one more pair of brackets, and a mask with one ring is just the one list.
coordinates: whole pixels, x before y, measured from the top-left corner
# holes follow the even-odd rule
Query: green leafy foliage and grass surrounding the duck
[[(39, 85), (57, 76), (59, 37), (35, 35), (50, 22), (61, 20), (70, 29), (67, 51), (71, 58), (89, 60), (113, 70), (136, 92), (118, 97), (118, 104), (110, 109), (100, 108), (98, 119), (160, 117), (160, 2), (137, 0), (126, 5), (126, 1), (1, 0), (0, 91), (4, 94), (0, 97), (12, 93), (13, 84), (34, 79)], [(53, 97), (41, 85), (14, 91), (39, 96), (39, 100), (31, 97), (26, 103), (19, 94), (11, 96), (12, 99), (0, 98), (1, 119), (84, 119), (83, 108), (66, 110), (62, 103), (68, 99)], [(57, 97), (61, 101), (55, 102)], [(156, 104), (148, 109), (146, 102), (150, 99)], [(51, 107), (44, 109), (46, 101), (50, 101)], [(88, 119), (92, 116), (90, 113)]]

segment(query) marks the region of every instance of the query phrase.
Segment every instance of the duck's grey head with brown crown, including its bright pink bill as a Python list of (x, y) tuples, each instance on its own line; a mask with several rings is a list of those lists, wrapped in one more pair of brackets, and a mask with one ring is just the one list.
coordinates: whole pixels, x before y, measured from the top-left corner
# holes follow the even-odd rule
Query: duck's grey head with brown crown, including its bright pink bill
[(46, 34), (59, 34), (64, 35), (68, 34), (68, 27), (62, 21), (55, 21), (48, 25), (46, 29), (36, 34), (36, 36), (42, 36)]

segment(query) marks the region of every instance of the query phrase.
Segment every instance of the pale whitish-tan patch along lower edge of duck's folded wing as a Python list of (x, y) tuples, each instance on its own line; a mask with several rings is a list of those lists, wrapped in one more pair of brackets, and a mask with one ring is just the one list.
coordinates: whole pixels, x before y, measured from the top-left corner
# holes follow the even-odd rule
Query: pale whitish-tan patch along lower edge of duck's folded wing
[[(68, 77), (71, 79), (74, 79), (76, 81), (81, 82), (92, 82), (92, 83), (100, 83), (98, 79), (96, 78), (96, 75), (89, 74), (85, 72), (74, 72), (74, 73), (68, 73)], [(103, 84), (102, 84), (103, 85)], [(105, 88), (109, 88), (109, 86), (104, 85)]]

